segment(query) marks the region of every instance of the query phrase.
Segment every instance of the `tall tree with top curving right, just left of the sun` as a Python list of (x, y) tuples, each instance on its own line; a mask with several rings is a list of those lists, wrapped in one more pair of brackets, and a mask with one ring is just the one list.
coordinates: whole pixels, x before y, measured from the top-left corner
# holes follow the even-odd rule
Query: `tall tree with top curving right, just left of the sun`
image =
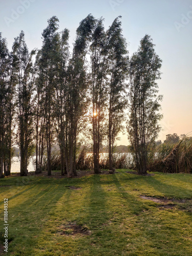
[(86, 98), (88, 91), (88, 81), (86, 77), (86, 55), (95, 25), (95, 18), (89, 14), (81, 20), (76, 30), (76, 40), (74, 43), (72, 58), (69, 62), (68, 83), (68, 146), (69, 146), (69, 173), (72, 177), (76, 175), (76, 143), (80, 118), (86, 113)]

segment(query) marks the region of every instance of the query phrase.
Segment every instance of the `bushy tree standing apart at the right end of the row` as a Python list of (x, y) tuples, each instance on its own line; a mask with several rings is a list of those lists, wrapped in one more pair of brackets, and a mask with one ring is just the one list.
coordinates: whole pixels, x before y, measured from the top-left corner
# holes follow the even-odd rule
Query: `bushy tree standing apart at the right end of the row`
[(130, 116), (127, 123), (129, 139), (134, 148), (139, 174), (147, 172), (148, 146), (154, 143), (161, 127), (158, 121), (162, 95), (158, 96), (162, 60), (155, 53), (152, 38), (145, 35), (130, 61)]

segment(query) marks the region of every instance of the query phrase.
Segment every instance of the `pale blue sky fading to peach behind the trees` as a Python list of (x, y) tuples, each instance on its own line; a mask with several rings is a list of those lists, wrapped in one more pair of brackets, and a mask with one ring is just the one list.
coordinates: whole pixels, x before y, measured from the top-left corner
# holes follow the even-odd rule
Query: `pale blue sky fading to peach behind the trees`
[[(29, 50), (41, 48), (41, 33), (53, 15), (59, 30), (70, 30), (72, 46), (80, 21), (88, 14), (104, 18), (105, 29), (122, 16), (122, 33), (131, 56), (149, 34), (162, 59), (158, 81), (163, 119), (158, 139), (167, 134), (192, 134), (192, 0), (0, 0), (0, 32), (11, 50), (21, 30)], [(120, 134), (118, 145), (127, 145)]]

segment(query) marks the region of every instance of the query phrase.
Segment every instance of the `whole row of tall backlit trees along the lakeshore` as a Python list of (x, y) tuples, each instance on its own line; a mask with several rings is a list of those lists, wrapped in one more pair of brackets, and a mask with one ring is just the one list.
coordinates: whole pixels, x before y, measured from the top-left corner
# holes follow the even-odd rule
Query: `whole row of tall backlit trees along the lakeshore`
[(146, 172), (147, 145), (157, 137), (161, 118), (157, 114), (161, 96), (157, 96), (155, 82), (160, 78), (161, 60), (151, 37), (141, 40), (129, 61), (120, 17), (105, 31), (103, 19), (90, 14), (80, 22), (70, 53), (69, 30), (58, 32), (58, 22), (56, 16), (48, 20), (41, 49), (31, 53), (23, 31), (15, 38), (11, 52), (0, 34), (0, 176), (10, 174), (15, 141), (20, 148), (21, 176), (27, 175), (34, 146), (36, 173), (41, 172), (46, 151), (51, 175), (55, 142), (60, 147), (61, 174), (76, 175), (77, 141), (83, 133), (84, 138), (93, 140), (95, 173), (99, 173), (101, 144), (108, 138), (112, 169), (115, 140), (123, 128), (128, 102), (127, 130), (139, 154), (135, 155), (138, 169)]

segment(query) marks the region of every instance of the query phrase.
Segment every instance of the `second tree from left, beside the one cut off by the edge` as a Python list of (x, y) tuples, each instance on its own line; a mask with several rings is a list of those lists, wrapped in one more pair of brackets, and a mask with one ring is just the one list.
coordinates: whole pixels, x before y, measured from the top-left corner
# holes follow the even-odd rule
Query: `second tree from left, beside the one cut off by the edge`
[(16, 117), (18, 126), (18, 145), (20, 148), (20, 176), (27, 176), (29, 157), (33, 150), (33, 98), (34, 80), (32, 56), (28, 51), (24, 32), (15, 38), (12, 54), (12, 76), (16, 81)]

